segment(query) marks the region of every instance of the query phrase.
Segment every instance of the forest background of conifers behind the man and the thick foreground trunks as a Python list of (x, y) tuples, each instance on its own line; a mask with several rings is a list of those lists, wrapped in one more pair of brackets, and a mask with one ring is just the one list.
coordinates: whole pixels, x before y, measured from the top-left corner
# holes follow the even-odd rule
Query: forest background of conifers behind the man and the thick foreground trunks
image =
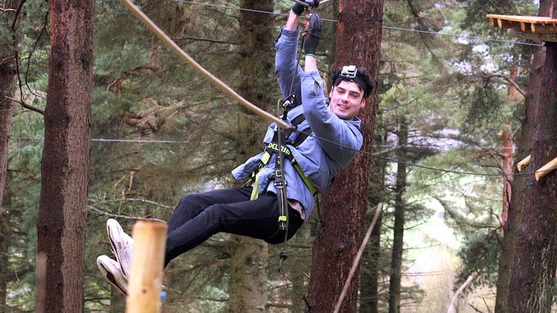
[[(369, 202), (384, 205), (362, 261), (361, 312), (446, 312), (469, 277), (453, 303), (455, 312), (495, 307), (505, 216), (501, 173), (513, 158), (524, 157), (512, 139), (524, 118), (522, 90), (540, 43), (508, 38), (489, 26), (485, 14), (538, 15), (539, 4), (484, 2), (384, 1), (375, 137), (372, 150), (361, 152), (374, 159)], [(265, 99), (258, 105), (276, 112), (281, 96), (272, 49), (239, 62), (246, 22), (239, 6), (159, 0), (141, 8), (196, 61), (234, 89), (248, 88)], [(265, 47), (271, 47), (290, 6), (292, 1), (275, 1), (271, 12), (261, 13), (272, 29)], [(322, 73), (334, 60), (335, 9), (330, 1), (317, 10), (324, 22)], [(9, 221), (2, 237), (8, 246), (2, 276), (6, 312), (35, 311), (48, 11), (46, 1), (26, 1), (17, 32), (18, 97), (2, 205), (3, 222)], [(2, 32), (3, 42), (10, 42), (6, 28)], [(109, 252), (107, 218), (130, 230), (136, 218), (166, 220), (187, 193), (232, 185), (230, 170), (260, 149), (267, 121), (239, 120), (236, 102), (146, 33), (119, 1), (95, 3), (94, 47), (85, 311), (118, 312), (123, 297), (95, 264), (97, 255)], [(260, 86), (242, 85), (246, 69), (258, 72)], [(311, 216), (290, 241), (281, 273), (280, 247), (269, 247), (267, 311), (303, 312), (319, 218)], [(219, 234), (173, 262), (165, 271), (164, 310), (226, 310), (234, 240)], [(377, 287), (368, 288), (372, 284)], [(392, 305), (397, 297), (398, 309)]]

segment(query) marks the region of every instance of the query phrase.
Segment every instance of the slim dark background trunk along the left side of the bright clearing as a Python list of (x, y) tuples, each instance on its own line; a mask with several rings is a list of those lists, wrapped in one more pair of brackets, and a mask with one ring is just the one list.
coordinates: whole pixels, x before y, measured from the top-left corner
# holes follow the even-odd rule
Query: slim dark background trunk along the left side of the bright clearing
[[(404, 161), (405, 146), (408, 141), (408, 125), (405, 118), (398, 123), (398, 159)], [(402, 195), (406, 189), (406, 164), (398, 163), (395, 184), (395, 226), (393, 229), (393, 253), (391, 257), (391, 278), (389, 280), (389, 313), (400, 312), (400, 282), (402, 280), (402, 251), (405, 233), (405, 202)]]

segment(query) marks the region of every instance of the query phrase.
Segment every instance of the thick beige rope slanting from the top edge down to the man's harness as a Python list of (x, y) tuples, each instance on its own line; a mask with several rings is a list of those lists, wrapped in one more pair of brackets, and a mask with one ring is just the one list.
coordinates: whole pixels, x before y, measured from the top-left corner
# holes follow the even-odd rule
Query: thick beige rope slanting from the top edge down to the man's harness
[(211, 81), (219, 88), (221, 88), (221, 90), (223, 90), (225, 93), (228, 93), (228, 95), (236, 99), (237, 102), (240, 102), (240, 104), (245, 106), (246, 109), (253, 111), (253, 113), (260, 115), (260, 117), (262, 118), (266, 118), (267, 120), (275, 122), (276, 125), (280, 125), (280, 127), (289, 130), (295, 129), (294, 127), (292, 127), (292, 125), (288, 123), (288, 121), (284, 121), (281, 120), (280, 118), (276, 118), (274, 115), (268, 113), (267, 111), (260, 109), (258, 106), (252, 104), (248, 100), (244, 99), (244, 97), (236, 93), (232, 88), (226, 85), (226, 83), (223, 83), (223, 81), (221, 81), (217, 77), (214, 77), (214, 75), (211, 74), (211, 72), (206, 70), (205, 67), (201, 66), (199, 63), (197, 63), (194, 60), (194, 58), (191, 58), (189, 54), (187, 54), (184, 50), (178, 47), (178, 45), (176, 45), (176, 43), (173, 42), (173, 40), (171, 40), (171, 38), (169, 38), (168, 35), (166, 35), (166, 33), (164, 33), (164, 31), (162, 31), (162, 29), (160, 29), (159, 26), (157, 26), (157, 24), (155, 24), (155, 22), (152, 22), (152, 20), (147, 15), (145, 15), (145, 13), (143, 13), (143, 11), (141, 11), (136, 5), (134, 5), (134, 3), (132, 3), (131, 0), (122, 0), (122, 2), (125, 4), (125, 6), (127, 6), (127, 8), (129, 8), (132, 11), (132, 13), (134, 13), (134, 15), (141, 22), (143, 22), (143, 24), (146, 24), (146, 26), (152, 33), (157, 35), (157, 37), (160, 40), (162, 40), (169, 48), (171, 48), (176, 54), (178, 54), (180, 58), (182, 58), (184, 61), (189, 63), (192, 67), (194, 67), (194, 69), (197, 70), (199, 74), (202, 74), (204, 77), (209, 79), (209, 81)]

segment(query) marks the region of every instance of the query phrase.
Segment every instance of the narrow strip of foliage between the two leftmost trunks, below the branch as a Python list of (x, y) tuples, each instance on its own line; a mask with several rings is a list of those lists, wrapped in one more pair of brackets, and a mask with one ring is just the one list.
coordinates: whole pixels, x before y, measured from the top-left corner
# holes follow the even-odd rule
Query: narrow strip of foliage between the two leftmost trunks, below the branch
[[(29, 94), (29, 97), (35, 97)], [(27, 99), (27, 98), (26, 98)], [(31, 101), (30, 101), (31, 102)], [(44, 101), (33, 101), (44, 107)], [(10, 211), (10, 273), (8, 307), (33, 310), (35, 301), (36, 218), (40, 198), (40, 163), (44, 123), (42, 115), (16, 107), (12, 121), (8, 185), (4, 206)], [(13, 273), (13, 274), (11, 274)]]

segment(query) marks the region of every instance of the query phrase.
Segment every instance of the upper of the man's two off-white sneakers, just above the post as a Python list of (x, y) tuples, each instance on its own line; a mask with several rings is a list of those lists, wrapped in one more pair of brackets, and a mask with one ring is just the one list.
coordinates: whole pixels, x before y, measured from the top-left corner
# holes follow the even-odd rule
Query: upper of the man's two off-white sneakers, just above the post
[(126, 234), (120, 223), (113, 218), (107, 220), (107, 232), (109, 234), (112, 253), (120, 265), (120, 271), (127, 279), (130, 274), (130, 262), (132, 262), (132, 250), (134, 239)]

